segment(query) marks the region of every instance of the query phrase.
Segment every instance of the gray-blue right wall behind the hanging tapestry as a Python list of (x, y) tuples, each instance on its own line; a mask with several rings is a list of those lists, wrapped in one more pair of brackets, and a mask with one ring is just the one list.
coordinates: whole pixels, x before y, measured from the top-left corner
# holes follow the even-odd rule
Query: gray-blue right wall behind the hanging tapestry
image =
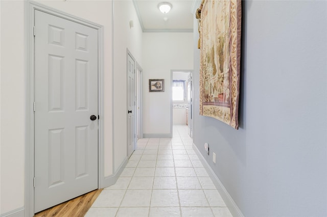
[(194, 144), (245, 216), (326, 216), (327, 2), (242, 11), (240, 128), (198, 115), (195, 31)]

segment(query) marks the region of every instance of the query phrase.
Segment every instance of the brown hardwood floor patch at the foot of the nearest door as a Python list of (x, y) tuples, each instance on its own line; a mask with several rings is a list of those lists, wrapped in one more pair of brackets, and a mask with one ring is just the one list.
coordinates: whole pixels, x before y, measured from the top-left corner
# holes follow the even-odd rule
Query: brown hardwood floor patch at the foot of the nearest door
[(95, 202), (97, 197), (102, 192), (102, 189), (89, 192), (72, 200), (61, 203), (57, 206), (45, 209), (36, 213), (35, 217), (50, 217), (50, 216), (74, 216), (82, 217)]

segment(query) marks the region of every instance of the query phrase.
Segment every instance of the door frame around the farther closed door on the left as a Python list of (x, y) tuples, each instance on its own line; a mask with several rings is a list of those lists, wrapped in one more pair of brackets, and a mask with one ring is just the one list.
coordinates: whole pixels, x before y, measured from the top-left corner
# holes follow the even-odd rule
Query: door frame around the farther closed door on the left
[[(128, 85), (127, 85), (127, 81), (128, 81), (128, 56), (134, 61), (134, 113), (135, 113), (135, 108), (136, 108), (136, 100), (135, 100), (135, 96), (136, 96), (136, 60), (135, 60), (135, 58), (133, 57), (133, 55), (132, 55), (132, 53), (129, 51), (129, 49), (127, 48), (126, 49), (126, 93), (127, 93), (127, 95), (128, 95)], [(126, 108), (128, 107), (128, 97), (127, 97), (127, 95), (126, 95)], [(127, 112), (127, 111), (126, 111)], [(134, 150), (136, 149), (136, 125), (137, 125), (137, 123), (136, 123), (136, 116), (137, 115), (134, 115), (134, 132), (135, 132), (135, 134), (134, 134)], [(127, 126), (127, 130), (126, 130), (126, 133), (128, 132), (128, 113), (127, 113), (127, 116), (126, 116), (127, 118), (126, 118), (126, 126)], [(128, 137), (128, 134), (127, 134), (127, 137)], [(127, 144), (126, 144), (127, 146), (127, 151), (126, 151), (126, 155), (127, 155), (127, 157), (129, 157), (128, 156), (128, 138), (127, 138)]]

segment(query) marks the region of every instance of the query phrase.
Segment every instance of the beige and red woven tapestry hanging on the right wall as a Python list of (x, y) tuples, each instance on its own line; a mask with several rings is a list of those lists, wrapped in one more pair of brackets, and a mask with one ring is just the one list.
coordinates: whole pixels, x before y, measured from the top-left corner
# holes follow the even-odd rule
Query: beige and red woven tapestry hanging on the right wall
[(200, 115), (239, 128), (241, 1), (203, 0), (200, 33)]

